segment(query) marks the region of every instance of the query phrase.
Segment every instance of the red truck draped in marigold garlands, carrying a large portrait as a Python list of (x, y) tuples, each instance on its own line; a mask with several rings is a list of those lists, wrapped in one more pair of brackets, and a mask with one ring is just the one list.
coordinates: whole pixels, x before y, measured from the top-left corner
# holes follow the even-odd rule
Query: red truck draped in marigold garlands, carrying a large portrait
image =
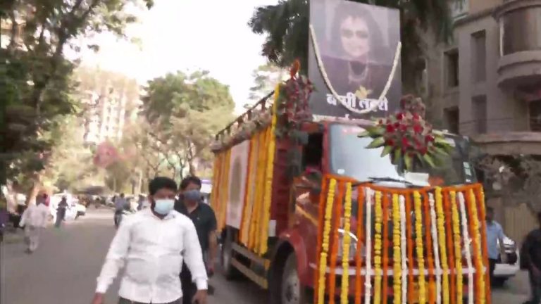
[(352, 92), (332, 80), (310, 32), (310, 80), (295, 63), (211, 147), (225, 277), (248, 277), (272, 304), (490, 303), (468, 139), (433, 129), (418, 98), (387, 99), (399, 41), (372, 97), (374, 82)]

